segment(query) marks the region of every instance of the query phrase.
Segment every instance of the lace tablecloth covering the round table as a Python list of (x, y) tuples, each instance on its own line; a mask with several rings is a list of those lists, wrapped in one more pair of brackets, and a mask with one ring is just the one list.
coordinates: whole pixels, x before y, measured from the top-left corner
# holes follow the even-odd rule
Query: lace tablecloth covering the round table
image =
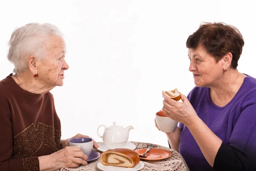
[[(141, 160), (144, 163), (144, 168), (141, 169), (141, 171), (189, 171), (186, 162), (184, 159), (180, 156), (180, 154), (171, 149), (166, 148), (161, 145), (155, 145), (151, 143), (145, 143), (145, 142), (132, 142), (136, 145), (135, 150), (141, 149), (141, 148), (148, 148), (149, 145), (151, 145), (153, 148), (160, 148), (171, 152), (171, 157), (168, 159), (163, 159), (160, 161), (145, 161)], [(93, 151), (98, 151), (96, 149), (93, 149)], [(94, 161), (88, 162), (88, 165), (81, 165), (78, 168), (61, 168), (58, 171), (101, 171), (99, 168), (97, 168), (97, 164), (100, 161), (100, 159), (96, 159)]]

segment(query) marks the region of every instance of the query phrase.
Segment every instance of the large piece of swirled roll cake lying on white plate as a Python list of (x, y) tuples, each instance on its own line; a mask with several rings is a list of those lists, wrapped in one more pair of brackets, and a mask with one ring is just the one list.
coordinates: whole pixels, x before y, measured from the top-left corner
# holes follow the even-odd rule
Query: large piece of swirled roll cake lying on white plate
[(137, 152), (128, 148), (116, 148), (108, 150), (100, 155), (103, 165), (113, 165), (125, 168), (132, 168), (140, 162)]

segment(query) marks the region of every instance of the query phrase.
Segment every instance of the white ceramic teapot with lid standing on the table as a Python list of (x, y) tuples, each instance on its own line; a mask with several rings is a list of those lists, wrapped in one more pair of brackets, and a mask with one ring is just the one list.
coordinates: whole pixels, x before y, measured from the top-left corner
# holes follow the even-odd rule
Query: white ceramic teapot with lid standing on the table
[[(105, 127), (103, 136), (99, 134), (99, 128), (101, 126)], [(128, 126), (123, 128), (122, 126), (116, 125), (116, 122), (113, 122), (113, 125), (108, 128), (105, 125), (99, 125), (97, 134), (103, 139), (104, 144), (109, 149), (124, 148), (126, 142), (128, 141), (129, 132), (131, 129), (134, 129), (134, 127)]]

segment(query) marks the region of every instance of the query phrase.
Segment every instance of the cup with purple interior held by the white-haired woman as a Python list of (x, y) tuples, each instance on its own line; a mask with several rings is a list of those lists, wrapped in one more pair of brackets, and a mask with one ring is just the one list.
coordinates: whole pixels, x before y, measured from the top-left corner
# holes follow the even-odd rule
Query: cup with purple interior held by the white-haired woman
[(89, 157), (93, 150), (93, 139), (85, 137), (73, 138), (68, 141), (68, 146), (80, 147), (84, 154)]

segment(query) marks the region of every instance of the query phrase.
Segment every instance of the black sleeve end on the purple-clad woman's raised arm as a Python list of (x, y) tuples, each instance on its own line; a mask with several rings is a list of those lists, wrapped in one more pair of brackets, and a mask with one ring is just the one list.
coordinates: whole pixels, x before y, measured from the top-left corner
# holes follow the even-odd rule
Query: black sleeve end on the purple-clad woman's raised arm
[(255, 171), (256, 168), (249, 163), (247, 156), (222, 142), (215, 157), (213, 169), (215, 171)]

